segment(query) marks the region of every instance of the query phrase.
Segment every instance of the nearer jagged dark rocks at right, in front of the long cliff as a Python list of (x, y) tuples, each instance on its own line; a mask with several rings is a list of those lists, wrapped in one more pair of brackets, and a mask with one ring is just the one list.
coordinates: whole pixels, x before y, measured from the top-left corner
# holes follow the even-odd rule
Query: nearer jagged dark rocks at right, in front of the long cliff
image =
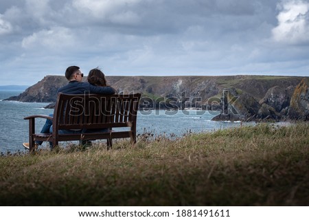
[(309, 120), (308, 85), (303, 78), (296, 87), (271, 87), (260, 102), (240, 89), (226, 88), (220, 98), (222, 112), (213, 120)]

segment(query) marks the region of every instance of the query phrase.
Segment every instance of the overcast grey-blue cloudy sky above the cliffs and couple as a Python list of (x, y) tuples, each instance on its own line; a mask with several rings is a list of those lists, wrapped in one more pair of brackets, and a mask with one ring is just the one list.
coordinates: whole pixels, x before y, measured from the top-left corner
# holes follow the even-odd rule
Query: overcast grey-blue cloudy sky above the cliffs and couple
[(108, 76), (309, 76), (309, 0), (0, 0), (0, 85)]

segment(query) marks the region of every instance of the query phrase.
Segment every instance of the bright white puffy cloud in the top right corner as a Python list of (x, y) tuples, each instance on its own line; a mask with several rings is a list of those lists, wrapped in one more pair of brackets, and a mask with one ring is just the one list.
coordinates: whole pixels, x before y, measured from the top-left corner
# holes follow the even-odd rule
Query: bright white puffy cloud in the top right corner
[(279, 5), (278, 25), (273, 28), (273, 39), (282, 43), (309, 43), (309, 3), (284, 1)]

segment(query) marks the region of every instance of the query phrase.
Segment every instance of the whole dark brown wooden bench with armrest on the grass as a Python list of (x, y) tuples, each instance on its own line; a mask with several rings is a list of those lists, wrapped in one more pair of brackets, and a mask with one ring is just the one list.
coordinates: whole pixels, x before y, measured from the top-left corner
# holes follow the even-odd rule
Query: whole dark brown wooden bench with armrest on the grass
[[(58, 142), (73, 140), (107, 140), (108, 148), (112, 146), (113, 138), (129, 137), (136, 143), (136, 120), (141, 94), (58, 94), (54, 109), (54, 117), (47, 115), (31, 115), (29, 120), (30, 152), (34, 151), (35, 141)], [(52, 120), (52, 133), (35, 133), (35, 119)], [(116, 129), (115, 128), (126, 128)], [(59, 133), (59, 130), (95, 129), (91, 133)], [(100, 132), (100, 129), (108, 129)], [(99, 131), (98, 131), (99, 130)], [(117, 131), (118, 130), (118, 131)], [(125, 131), (122, 131), (125, 130)]]

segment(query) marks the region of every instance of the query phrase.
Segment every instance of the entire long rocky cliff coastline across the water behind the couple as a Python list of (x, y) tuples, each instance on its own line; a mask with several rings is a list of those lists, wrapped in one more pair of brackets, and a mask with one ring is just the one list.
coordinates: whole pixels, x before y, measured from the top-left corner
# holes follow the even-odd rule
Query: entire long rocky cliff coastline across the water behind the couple
[[(107, 76), (106, 79), (118, 92), (143, 94), (148, 104), (141, 100), (141, 107), (220, 109), (222, 113), (214, 120), (308, 118), (309, 77), (302, 80), (301, 77), (248, 75)], [(57, 89), (66, 84), (64, 76), (46, 76), (8, 100), (55, 102)], [(307, 110), (303, 115), (304, 109)]]

